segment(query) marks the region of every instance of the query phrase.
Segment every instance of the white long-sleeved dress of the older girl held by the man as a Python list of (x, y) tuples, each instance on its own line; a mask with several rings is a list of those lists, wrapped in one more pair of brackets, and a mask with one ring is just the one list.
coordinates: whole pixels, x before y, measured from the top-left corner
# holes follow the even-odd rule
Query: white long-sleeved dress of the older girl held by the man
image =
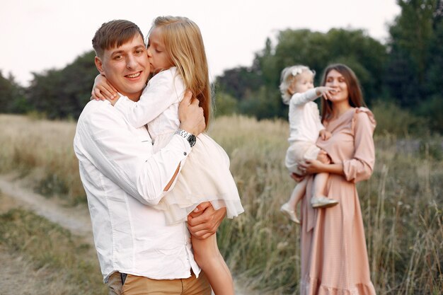
[[(138, 103), (122, 97), (115, 107), (132, 126), (148, 125), (156, 152), (168, 144), (180, 125), (178, 104), (184, 93), (183, 79), (177, 68), (172, 67), (149, 81)], [(188, 214), (205, 201), (211, 202), (215, 209), (226, 207), (228, 218), (244, 211), (229, 170), (228, 155), (217, 142), (202, 133), (198, 135), (173, 189), (155, 208), (163, 210), (168, 224), (173, 224), (186, 221)]]

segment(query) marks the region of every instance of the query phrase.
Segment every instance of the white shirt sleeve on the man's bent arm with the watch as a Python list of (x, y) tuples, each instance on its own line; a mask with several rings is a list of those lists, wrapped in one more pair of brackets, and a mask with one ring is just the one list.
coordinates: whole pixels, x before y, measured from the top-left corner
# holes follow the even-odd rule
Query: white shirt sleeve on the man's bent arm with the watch
[[(144, 204), (155, 205), (180, 162), (190, 153), (190, 145), (176, 135), (153, 154), (148, 132), (139, 134), (134, 136), (125, 119), (110, 104), (100, 105), (79, 118), (74, 150), (80, 162), (91, 162), (122, 190)], [(98, 176), (97, 181), (100, 181)]]

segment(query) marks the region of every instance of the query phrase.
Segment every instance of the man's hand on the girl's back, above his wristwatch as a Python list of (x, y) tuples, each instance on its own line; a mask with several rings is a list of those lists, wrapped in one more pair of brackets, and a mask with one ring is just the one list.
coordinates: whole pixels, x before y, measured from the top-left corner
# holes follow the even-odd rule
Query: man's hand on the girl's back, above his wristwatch
[(203, 108), (198, 106), (199, 101), (192, 98), (192, 93), (186, 91), (185, 97), (178, 105), (178, 119), (180, 120), (180, 129), (183, 129), (194, 135), (205, 131), (205, 116)]

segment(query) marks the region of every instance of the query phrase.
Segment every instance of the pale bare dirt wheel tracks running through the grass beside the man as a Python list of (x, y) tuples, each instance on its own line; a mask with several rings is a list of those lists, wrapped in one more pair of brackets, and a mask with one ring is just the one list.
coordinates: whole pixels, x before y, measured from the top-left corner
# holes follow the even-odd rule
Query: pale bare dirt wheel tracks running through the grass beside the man
[[(46, 219), (60, 224), (65, 229), (69, 229), (69, 231), (75, 233), (77, 236), (85, 238), (85, 241), (93, 245), (91, 218), (86, 207), (66, 207), (57, 201), (57, 199), (48, 199), (36, 194), (27, 187), (28, 183), (26, 183), (25, 180), (19, 180), (16, 175), (0, 175), (0, 192), (3, 195), (0, 212), (4, 212), (13, 207), (32, 210), (40, 216), (44, 216)], [(16, 280), (17, 284), (14, 284), (14, 286), (32, 289), (36, 284), (41, 284), (42, 275), (36, 273), (28, 277), (28, 273), (33, 272), (28, 262), (25, 262), (20, 257), (11, 257), (11, 255), (5, 253), (1, 248), (0, 265), (8, 265), (8, 268), (1, 270), (0, 274)], [(18, 277), (17, 274), (19, 274)], [(28, 282), (25, 281), (26, 279), (28, 279)], [(246, 291), (243, 287), (239, 287), (241, 284), (238, 282), (235, 282), (235, 285), (236, 295), (258, 294), (257, 292)], [(0, 290), (0, 295), (6, 294), (16, 293), (3, 293), (3, 291)], [(21, 294), (30, 293), (26, 292)]]

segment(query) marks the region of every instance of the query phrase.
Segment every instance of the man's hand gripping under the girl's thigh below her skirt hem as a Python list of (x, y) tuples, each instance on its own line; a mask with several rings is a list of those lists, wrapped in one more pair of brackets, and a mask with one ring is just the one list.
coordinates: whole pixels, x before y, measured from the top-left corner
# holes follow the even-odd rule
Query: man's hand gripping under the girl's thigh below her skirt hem
[(192, 236), (204, 240), (217, 232), (225, 215), (226, 208), (216, 210), (210, 202), (203, 202), (188, 215), (188, 229)]

